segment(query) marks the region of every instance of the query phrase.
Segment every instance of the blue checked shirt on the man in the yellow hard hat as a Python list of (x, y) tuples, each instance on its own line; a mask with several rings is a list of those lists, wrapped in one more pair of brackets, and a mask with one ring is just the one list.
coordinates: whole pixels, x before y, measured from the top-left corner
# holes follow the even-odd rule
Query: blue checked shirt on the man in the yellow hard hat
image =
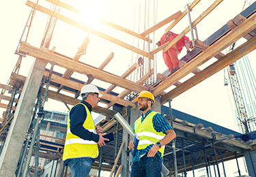
[[(152, 110), (149, 110), (148, 112), (146, 112), (145, 116), (143, 116), (143, 114), (141, 114), (141, 123), (143, 122), (143, 120), (145, 119), (145, 117), (150, 114), (150, 112), (152, 112)], [(163, 132), (165, 133), (165, 131), (169, 130), (169, 129), (173, 129), (171, 127), (171, 125), (169, 125), (169, 123), (167, 122), (167, 120), (165, 120), (164, 116), (162, 116), (162, 114), (156, 114), (153, 117), (152, 120), (153, 123), (153, 127), (157, 132)], [(166, 134), (166, 133), (165, 133)], [(150, 149), (154, 146), (154, 144), (150, 144), (149, 146), (147, 146), (144, 149), (138, 149), (136, 151), (136, 154), (134, 155), (134, 157), (132, 157), (132, 163), (137, 162), (137, 161), (141, 161), (141, 155), (145, 155), (147, 152), (150, 151)], [(162, 163), (162, 156), (161, 156), (161, 152), (157, 152), (158, 156), (160, 157), (160, 161)]]

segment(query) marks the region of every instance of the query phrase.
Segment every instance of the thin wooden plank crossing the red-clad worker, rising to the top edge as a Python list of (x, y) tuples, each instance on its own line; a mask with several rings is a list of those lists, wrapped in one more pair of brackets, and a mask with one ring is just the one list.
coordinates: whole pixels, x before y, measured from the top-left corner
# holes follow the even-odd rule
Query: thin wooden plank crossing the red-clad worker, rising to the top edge
[[(212, 12), (212, 10), (214, 10), (214, 8), (217, 7), (217, 5), (219, 5), (222, 1), (223, 0), (214, 1), (214, 3), (212, 3), (212, 5), (210, 5), (210, 7), (208, 7), (208, 9), (203, 12), (203, 14), (201, 14), (199, 17), (197, 17), (197, 19), (195, 19), (195, 21), (193, 21), (192, 26), (195, 27), (199, 22), (201, 22), (201, 20), (203, 20), (203, 18), (205, 18), (205, 16), (207, 16), (210, 12)], [(169, 50), (169, 48), (171, 48), (174, 44), (176, 44), (178, 41), (180, 41), (180, 39), (182, 39), (182, 37), (184, 37), (184, 35), (186, 35), (186, 33), (188, 33), (188, 31), (190, 31), (189, 25), (188, 25), (188, 27), (186, 27), (186, 29), (184, 29), (184, 31), (182, 31), (182, 33), (177, 35), (177, 37), (175, 37), (171, 41), (171, 43), (168, 44), (168, 46), (166, 46), (164, 48), (164, 52), (167, 52), (167, 50)]]

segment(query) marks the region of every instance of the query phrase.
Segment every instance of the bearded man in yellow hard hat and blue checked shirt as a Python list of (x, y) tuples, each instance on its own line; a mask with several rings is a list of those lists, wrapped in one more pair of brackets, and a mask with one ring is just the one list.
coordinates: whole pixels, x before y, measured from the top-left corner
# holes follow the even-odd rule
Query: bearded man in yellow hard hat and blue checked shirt
[[(160, 177), (162, 170), (162, 156), (165, 145), (176, 137), (173, 128), (159, 112), (152, 111), (155, 102), (154, 95), (148, 91), (141, 91), (138, 101), (141, 116), (134, 123), (134, 133), (139, 136), (139, 145), (132, 157), (131, 177)], [(129, 143), (134, 150), (134, 143)]]

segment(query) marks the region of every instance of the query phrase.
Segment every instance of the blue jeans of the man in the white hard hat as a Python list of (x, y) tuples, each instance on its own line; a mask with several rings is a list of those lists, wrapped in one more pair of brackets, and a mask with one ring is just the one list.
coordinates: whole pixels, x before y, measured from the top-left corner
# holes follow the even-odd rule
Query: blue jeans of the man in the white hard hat
[(68, 166), (70, 167), (71, 176), (89, 176), (92, 163), (93, 159), (90, 157), (70, 159), (70, 161), (68, 161)]

